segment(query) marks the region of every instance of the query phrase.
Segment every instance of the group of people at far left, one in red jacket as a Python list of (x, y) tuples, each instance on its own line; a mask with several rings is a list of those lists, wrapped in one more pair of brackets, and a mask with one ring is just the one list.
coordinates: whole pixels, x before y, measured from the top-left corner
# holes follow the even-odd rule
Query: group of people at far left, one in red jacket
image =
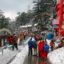
[(14, 48), (16, 48), (16, 50), (18, 50), (18, 45), (17, 45), (17, 36), (16, 34), (13, 35), (1, 35), (0, 36), (0, 46), (9, 46), (12, 45), (12, 50), (14, 50)]

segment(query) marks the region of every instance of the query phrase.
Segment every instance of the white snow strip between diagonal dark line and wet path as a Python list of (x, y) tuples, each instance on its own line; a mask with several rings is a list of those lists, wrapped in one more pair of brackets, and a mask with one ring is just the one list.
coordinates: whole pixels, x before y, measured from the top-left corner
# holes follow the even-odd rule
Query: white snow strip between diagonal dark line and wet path
[(26, 45), (23, 47), (21, 52), (19, 52), (16, 55), (15, 59), (10, 64), (23, 64), (24, 63), (24, 60), (25, 60), (26, 56), (28, 55), (28, 45), (27, 45), (27, 42), (29, 41), (29, 39), (26, 40), (26, 42), (25, 42)]

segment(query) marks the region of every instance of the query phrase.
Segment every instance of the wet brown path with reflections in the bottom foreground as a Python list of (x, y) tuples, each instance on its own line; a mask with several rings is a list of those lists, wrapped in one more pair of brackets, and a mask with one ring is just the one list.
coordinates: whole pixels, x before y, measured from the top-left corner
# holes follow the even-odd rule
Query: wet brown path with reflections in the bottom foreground
[(43, 61), (37, 56), (28, 56), (26, 57), (24, 64), (51, 64), (51, 63), (48, 61), (48, 59)]

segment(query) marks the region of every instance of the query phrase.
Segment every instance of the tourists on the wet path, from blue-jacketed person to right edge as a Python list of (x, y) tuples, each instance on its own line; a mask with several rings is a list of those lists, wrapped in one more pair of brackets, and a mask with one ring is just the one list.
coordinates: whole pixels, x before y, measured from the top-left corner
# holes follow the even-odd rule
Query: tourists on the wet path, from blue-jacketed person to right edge
[[(64, 38), (59, 38), (54, 36), (53, 39), (48, 40), (47, 37), (31, 36), (28, 41), (29, 55), (33, 55), (33, 49), (36, 49), (36, 55), (41, 60), (46, 60), (49, 52), (61, 48), (64, 46)], [(35, 51), (34, 51), (35, 52)]]

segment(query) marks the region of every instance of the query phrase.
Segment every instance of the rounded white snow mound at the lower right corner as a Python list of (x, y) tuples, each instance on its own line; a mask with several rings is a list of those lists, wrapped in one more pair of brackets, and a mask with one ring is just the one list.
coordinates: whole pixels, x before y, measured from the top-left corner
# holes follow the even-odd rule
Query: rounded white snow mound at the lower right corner
[(51, 64), (64, 64), (64, 47), (54, 50), (48, 54)]

